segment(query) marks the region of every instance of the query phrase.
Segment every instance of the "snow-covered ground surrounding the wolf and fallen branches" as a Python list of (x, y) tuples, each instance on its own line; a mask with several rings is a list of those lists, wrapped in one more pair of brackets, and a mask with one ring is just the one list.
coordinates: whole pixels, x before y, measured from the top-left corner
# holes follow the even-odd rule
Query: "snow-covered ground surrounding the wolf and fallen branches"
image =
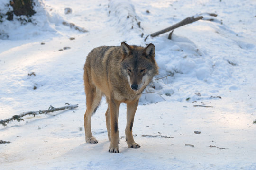
[[(39, 0), (35, 10), (32, 23), (0, 23), (0, 119), (66, 102), (79, 107), (0, 125), (0, 140), (11, 142), (0, 144), (1, 170), (256, 170), (255, 0)], [(193, 15), (214, 20), (177, 28), (172, 40), (166, 33), (144, 41)], [(122, 41), (153, 43), (160, 74), (135, 116), (139, 149), (122, 137), (121, 105), (116, 154), (108, 152), (105, 100), (92, 118), (99, 143), (85, 143), (82, 78), (91, 49)]]

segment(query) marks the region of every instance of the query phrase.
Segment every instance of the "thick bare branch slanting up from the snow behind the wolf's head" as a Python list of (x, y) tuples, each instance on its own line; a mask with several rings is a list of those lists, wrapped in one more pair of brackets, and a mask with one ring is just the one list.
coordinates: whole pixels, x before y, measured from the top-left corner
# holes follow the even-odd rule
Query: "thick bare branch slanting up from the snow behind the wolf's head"
[(163, 30), (160, 30), (160, 31), (157, 31), (155, 33), (150, 34), (150, 36), (155, 37), (157, 35), (164, 34), (168, 31), (174, 30), (175, 28), (190, 24), (190, 23), (198, 21), (202, 18), (203, 18), (202, 16), (199, 16), (199, 17), (196, 17), (196, 18), (194, 16), (193, 17), (187, 17), (187, 18), (183, 19), (182, 21), (178, 22), (177, 24), (174, 24), (173, 26), (170, 26), (168, 28), (165, 28)]

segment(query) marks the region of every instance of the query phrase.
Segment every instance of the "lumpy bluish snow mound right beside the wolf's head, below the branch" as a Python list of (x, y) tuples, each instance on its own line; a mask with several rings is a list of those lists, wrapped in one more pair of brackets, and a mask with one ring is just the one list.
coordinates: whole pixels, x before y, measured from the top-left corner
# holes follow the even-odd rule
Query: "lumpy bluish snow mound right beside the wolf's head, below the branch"
[[(174, 99), (186, 101), (187, 98), (199, 100), (203, 97), (218, 95), (216, 91), (210, 93), (207, 87), (219, 89), (225, 85), (232, 86), (230, 79), (234, 79), (232, 72), (235, 65), (232, 65), (227, 57), (214, 56), (213, 58), (206, 55), (205, 50), (201, 50), (187, 37), (173, 34), (172, 40), (168, 40), (167, 36), (164, 34), (156, 38), (148, 38), (148, 42), (155, 45), (155, 59), (160, 70), (159, 75), (155, 76), (143, 93), (141, 104)], [(190, 93), (181, 91), (182, 86), (193, 89), (194, 85), (199, 88)], [(198, 91), (207, 95), (199, 97), (195, 95)]]

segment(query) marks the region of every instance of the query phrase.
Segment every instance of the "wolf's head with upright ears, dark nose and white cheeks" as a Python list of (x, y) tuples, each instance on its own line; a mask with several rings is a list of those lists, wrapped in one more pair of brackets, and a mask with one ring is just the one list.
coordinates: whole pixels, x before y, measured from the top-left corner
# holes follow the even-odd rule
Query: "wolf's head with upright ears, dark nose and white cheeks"
[(158, 66), (155, 61), (155, 46), (147, 45), (129, 46), (127, 43), (121, 43), (123, 55), (121, 69), (127, 76), (128, 83), (132, 90), (142, 92), (149, 84), (152, 78), (158, 74)]

